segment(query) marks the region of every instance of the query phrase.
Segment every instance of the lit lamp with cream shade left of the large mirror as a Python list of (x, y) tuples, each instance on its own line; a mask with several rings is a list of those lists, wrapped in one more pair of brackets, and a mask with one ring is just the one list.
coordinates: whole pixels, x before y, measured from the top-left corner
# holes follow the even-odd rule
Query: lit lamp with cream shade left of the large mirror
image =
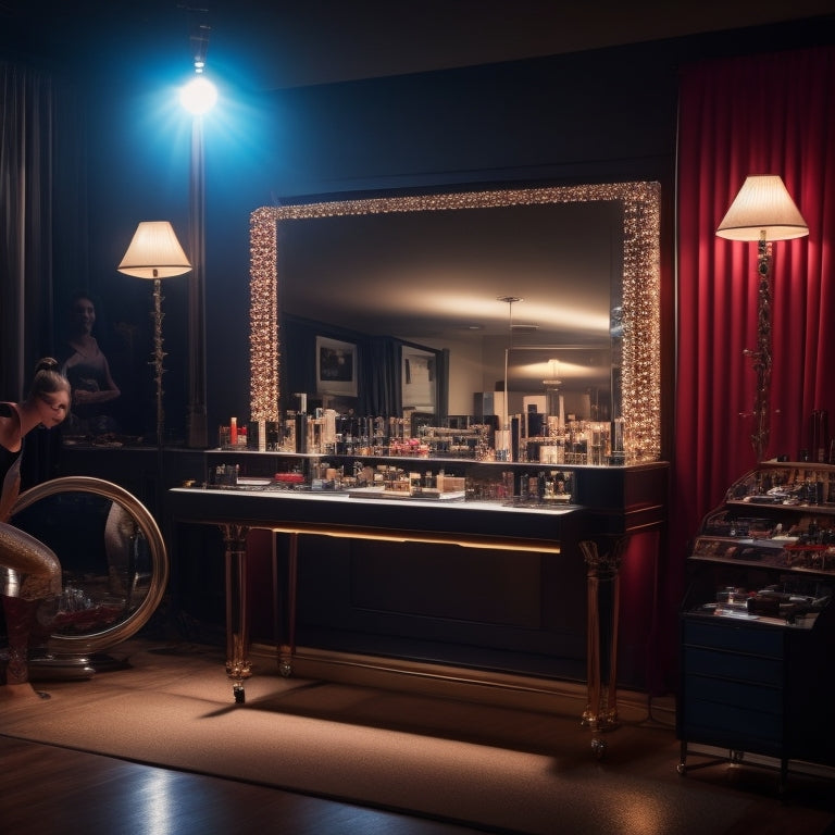
[(162, 375), (165, 351), (162, 349), (162, 278), (184, 275), (191, 264), (179, 246), (169, 221), (142, 221), (119, 267), (120, 273), (153, 281), (153, 371), (157, 383), (157, 447), (165, 440), (165, 412), (162, 407)]

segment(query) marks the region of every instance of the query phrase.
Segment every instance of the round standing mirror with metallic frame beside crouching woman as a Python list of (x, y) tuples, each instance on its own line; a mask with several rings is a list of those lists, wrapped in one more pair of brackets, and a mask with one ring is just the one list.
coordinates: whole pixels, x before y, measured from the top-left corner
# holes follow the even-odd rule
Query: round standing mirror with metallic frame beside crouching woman
[(51, 651), (72, 656), (115, 646), (162, 600), (165, 544), (147, 508), (122, 487), (87, 476), (53, 478), (21, 494), (10, 521), (61, 562)]

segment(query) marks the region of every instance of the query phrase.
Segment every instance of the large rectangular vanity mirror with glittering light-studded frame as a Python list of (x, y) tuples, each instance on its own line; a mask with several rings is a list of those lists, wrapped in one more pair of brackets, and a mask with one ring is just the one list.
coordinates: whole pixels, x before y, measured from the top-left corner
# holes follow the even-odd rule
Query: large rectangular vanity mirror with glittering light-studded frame
[[(657, 183), (392, 195), (251, 215), (251, 414), (279, 420), (283, 323), (448, 357), (450, 401), (546, 397), (622, 418), (626, 461), (660, 457)], [(508, 301), (512, 299), (513, 301)], [(466, 408), (469, 407), (469, 408)], [(594, 414), (584, 415), (593, 418)]]

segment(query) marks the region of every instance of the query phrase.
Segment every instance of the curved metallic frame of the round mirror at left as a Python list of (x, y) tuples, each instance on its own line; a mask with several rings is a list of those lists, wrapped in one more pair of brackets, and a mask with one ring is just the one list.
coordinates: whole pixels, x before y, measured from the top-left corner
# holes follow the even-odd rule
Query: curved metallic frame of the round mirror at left
[[(52, 635), (49, 639), (50, 649), (59, 655), (80, 655), (113, 647), (135, 635), (154, 613), (169, 582), (169, 558), (165, 543), (153, 516), (139, 499), (112, 482), (94, 478), (86, 475), (70, 475), (52, 478), (24, 490), (12, 508), (15, 513), (30, 508), (41, 499), (61, 493), (89, 493), (119, 502), (133, 518), (139, 529), (145, 534), (151, 557), (151, 581), (145, 599), (130, 614), (108, 630), (88, 633), (86, 635)], [(59, 561), (61, 554), (58, 554)]]

